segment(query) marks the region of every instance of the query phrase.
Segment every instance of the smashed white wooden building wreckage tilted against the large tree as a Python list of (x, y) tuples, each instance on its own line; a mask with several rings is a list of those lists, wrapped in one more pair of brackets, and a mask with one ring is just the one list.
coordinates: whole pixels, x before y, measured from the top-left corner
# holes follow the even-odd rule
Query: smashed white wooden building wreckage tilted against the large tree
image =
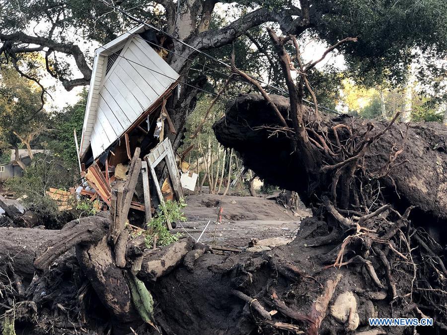
[[(169, 38), (142, 24), (95, 51), (79, 146), (81, 170), (95, 191), (81, 194), (99, 197), (108, 206), (112, 190), (124, 183), (129, 162), (140, 148), (144, 199), (143, 192), (136, 192), (131, 208), (146, 211), (148, 219), (153, 211), (150, 194), (157, 196), (155, 207), (163, 197), (182, 196), (171, 143), (162, 141), (165, 121), (176, 133), (167, 99), (179, 75), (163, 59), (171, 47)], [(153, 168), (163, 159), (169, 178), (160, 187)]]

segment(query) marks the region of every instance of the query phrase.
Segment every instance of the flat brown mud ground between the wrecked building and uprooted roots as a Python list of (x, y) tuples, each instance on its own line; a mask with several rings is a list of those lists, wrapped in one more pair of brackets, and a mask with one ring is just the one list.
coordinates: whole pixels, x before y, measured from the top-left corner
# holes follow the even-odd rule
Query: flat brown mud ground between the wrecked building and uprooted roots
[[(230, 248), (247, 247), (251, 239), (292, 237), (299, 231), (301, 219), (311, 215), (302, 203), (292, 212), (277, 203), (275, 195), (255, 198), (200, 194), (188, 196), (186, 203), (188, 221), (174, 232), (197, 240), (211, 220), (200, 241)], [(222, 223), (217, 222), (221, 205)]]

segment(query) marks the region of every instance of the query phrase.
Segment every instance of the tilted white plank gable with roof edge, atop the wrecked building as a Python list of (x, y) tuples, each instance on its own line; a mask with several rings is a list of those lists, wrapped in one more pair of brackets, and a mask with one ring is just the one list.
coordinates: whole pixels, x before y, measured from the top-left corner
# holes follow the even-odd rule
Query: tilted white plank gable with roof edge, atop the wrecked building
[(178, 73), (137, 35), (146, 30), (141, 24), (96, 49), (81, 156), (91, 145), (97, 158), (176, 83)]

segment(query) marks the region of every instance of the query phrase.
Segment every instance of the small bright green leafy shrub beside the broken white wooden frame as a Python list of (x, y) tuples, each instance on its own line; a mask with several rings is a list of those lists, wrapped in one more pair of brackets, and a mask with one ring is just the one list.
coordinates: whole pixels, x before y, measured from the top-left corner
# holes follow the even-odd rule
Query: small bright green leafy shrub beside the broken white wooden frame
[[(164, 210), (163, 210), (164, 206)], [(137, 237), (141, 234), (145, 236), (145, 245), (147, 248), (153, 247), (154, 240), (156, 245), (167, 246), (179, 240), (181, 233), (172, 235), (166, 228), (166, 219), (170, 222), (185, 222), (186, 217), (182, 208), (186, 207), (184, 199), (180, 201), (165, 201), (158, 205), (157, 216), (148, 223), (148, 230), (139, 230), (132, 234), (132, 237)], [(166, 214), (165, 214), (166, 212)]]

